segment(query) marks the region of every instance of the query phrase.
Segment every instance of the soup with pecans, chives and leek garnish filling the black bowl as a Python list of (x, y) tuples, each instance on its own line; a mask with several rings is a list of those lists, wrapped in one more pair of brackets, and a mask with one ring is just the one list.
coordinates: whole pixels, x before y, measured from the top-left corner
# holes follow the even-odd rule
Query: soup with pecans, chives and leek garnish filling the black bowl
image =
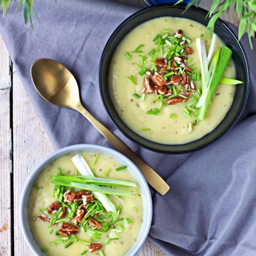
[(218, 126), (233, 103), (231, 54), (198, 22), (161, 17), (142, 23), (113, 54), (108, 75), (113, 105), (123, 122), (148, 140), (197, 140)]

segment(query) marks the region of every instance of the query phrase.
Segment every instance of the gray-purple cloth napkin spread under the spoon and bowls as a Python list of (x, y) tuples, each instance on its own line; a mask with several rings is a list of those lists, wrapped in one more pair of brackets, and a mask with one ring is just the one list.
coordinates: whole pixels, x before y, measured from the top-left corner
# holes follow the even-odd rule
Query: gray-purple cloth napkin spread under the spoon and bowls
[[(38, 95), (30, 66), (41, 57), (63, 63), (78, 80), (87, 110), (170, 185), (165, 196), (153, 194), (149, 238), (156, 245), (167, 255), (256, 255), (256, 54), (247, 39), (241, 42), (252, 68), (251, 88), (239, 124), (206, 149), (164, 155), (125, 138), (108, 118), (98, 89), (103, 47), (119, 23), (139, 7), (100, 0), (62, 0), (57, 4), (40, 0), (35, 4), (40, 24), (34, 23), (33, 32), (23, 25), (22, 14), (16, 14), (15, 7), (0, 17), (0, 32), (54, 148), (77, 143), (110, 145), (81, 114), (50, 105)], [(256, 40), (253, 43), (256, 49)]]

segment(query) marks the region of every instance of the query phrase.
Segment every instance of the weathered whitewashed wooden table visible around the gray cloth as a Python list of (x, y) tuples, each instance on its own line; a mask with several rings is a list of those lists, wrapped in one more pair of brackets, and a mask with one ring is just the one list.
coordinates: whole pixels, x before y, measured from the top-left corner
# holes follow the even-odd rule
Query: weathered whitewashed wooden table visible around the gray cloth
[[(147, 6), (143, 0), (121, 1)], [(211, 2), (212, 0), (202, 0), (200, 7), (209, 10)], [(235, 25), (239, 24), (233, 10), (225, 14), (223, 19)], [(37, 23), (37, 26), (40, 25)], [(18, 214), (20, 195), (28, 175), (54, 149), (12, 66), (1, 36), (0, 134), (0, 256), (32, 256), (20, 229)], [(138, 256), (153, 255), (165, 254), (147, 240), (138, 252)]]

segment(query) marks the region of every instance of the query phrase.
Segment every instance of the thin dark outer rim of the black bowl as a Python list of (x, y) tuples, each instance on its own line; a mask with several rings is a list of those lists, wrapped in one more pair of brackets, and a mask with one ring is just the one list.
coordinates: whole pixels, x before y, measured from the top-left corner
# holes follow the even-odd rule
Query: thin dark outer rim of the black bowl
[[(228, 133), (233, 127), (234, 125), (236, 124), (236, 122), (238, 121), (239, 117), (241, 116), (242, 112), (244, 111), (244, 108), (245, 108), (245, 105), (246, 105), (246, 102), (247, 102), (247, 98), (248, 98), (248, 95), (249, 95), (249, 89), (250, 89), (250, 70), (249, 70), (249, 65), (248, 65), (248, 59), (246, 57), (246, 54), (245, 54), (245, 50), (244, 50), (244, 47), (242, 46), (242, 44), (240, 43), (240, 41), (238, 41), (238, 37), (236, 36), (236, 34), (234, 33), (234, 31), (223, 21), (221, 20), (220, 18), (217, 19), (217, 21), (219, 21), (220, 23), (222, 23), (222, 25), (226, 28), (226, 30), (228, 30), (230, 32), (230, 34), (234, 37), (236, 43), (238, 44), (238, 46), (240, 47), (240, 50), (242, 52), (242, 55), (244, 57), (244, 60), (245, 60), (245, 69), (246, 69), (246, 73), (247, 73), (247, 80), (246, 82), (244, 83), (245, 84), (245, 90), (246, 90), (246, 95), (245, 95), (245, 99), (244, 101), (242, 102), (241, 104), (241, 108), (240, 108), (240, 112), (238, 112), (238, 114), (236, 114), (236, 116), (234, 117), (233, 119), (233, 122), (231, 122), (228, 126), (228, 128), (226, 128), (226, 130), (224, 130), (217, 138), (213, 139), (212, 141), (210, 141), (209, 143), (207, 144), (204, 144), (204, 145), (201, 145), (197, 148), (192, 148), (192, 149), (189, 149), (189, 150), (185, 150), (185, 151), (166, 151), (166, 150), (158, 150), (158, 149), (154, 149), (154, 148), (150, 148), (149, 146), (146, 146), (144, 145), (143, 143), (140, 143), (138, 142), (137, 140), (135, 140), (134, 138), (132, 138), (130, 135), (128, 135), (127, 133), (125, 133), (117, 124), (117, 122), (114, 120), (114, 118), (111, 116), (111, 113), (110, 111), (108, 110), (107, 106), (106, 106), (106, 102), (104, 100), (104, 93), (102, 91), (102, 86), (101, 86), (101, 70), (103, 69), (103, 59), (105, 57), (105, 53), (107, 51), (107, 47), (108, 45), (111, 43), (112, 39), (114, 38), (114, 36), (118, 33), (119, 30), (121, 30), (121, 28), (126, 24), (128, 23), (130, 20), (132, 20), (135, 16), (138, 16), (142, 13), (145, 13), (151, 9), (155, 9), (155, 8), (158, 8), (158, 7), (163, 7), (163, 6), (167, 6), (167, 7), (186, 7), (186, 4), (178, 4), (178, 5), (174, 5), (173, 3), (164, 3), (164, 4), (158, 4), (158, 5), (152, 5), (152, 6), (148, 6), (148, 7), (145, 7), (137, 12), (135, 12), (134, 14), (130, 15), (128, 18), (126, 18), (126, 20), (124, 20), (122, 23), (120, 23), (117, 28), (113, 31), (113, 33), (111, 34), (111, 36), (108, 38), (106, 44), (105, 44), (105, 47), (103, 48), (103, 52), (102, 52), (102, 55), (101, 55), (101, 59), (100, 59), (100, 64), (99, 64), (99, 69), (98, 69), (98, 84), (99, 84), (99, 91), (100, 91), (100, 95), (101, 95), (101, 101), (102, 101), (102, 104), (105, 108), (105, 111), (107, 112), (107, 115), (108, 117), (111, 119), (111, 121), (113, 122), (114, 126), (116, 126), (116, 128), (119, 130), (119, 132), (121, 132), (126, 138), (128, 138), (129, 140), (131, 140), (132, 142), (134, 142), (135, 144), (145, 148), (145, 149), (148, 149), (148, 150), (151, 150), (151, 151), (154, 151), (154, 152), (157, 152), (157, 153), (164, 153), (164, 154), (173, 154), (173, 155), (177, 155), (177, 154), (186, 154), (186, 153), (192, 153), (194, 151), (197, 151), (197, 150), (201, 150), (203, 148), (206, 148), (207, 146), (209, 145), (212, 145), (213, 143), (217, 142), (219, 139), (221, 139), (226, 133)], [(201, 7), (196, 7), (194, 5), (192, 5), (190, 7), (190, 9), (194, 9), (194, 10), (197, 10), (197, 11), (200, 11), (200, 12), (203, 12), (204, 14), (207, 15), (208, 11), (201, 8)], [(189, 11), (189, 10), (188, 10)], [(140, 23), (142, 24), (142, 23)], [(139, 25), (140, 25), (139, 24)], [(138, 25), (138, 26), (139, 26)], [(222, 120), (223, 121), (223, 120)], [(222, 123), (222, 121), (220, 123)], [(220, 124), (219, 123), (219, 124)], [(218, 125), (219, 125), (218, 124)], [(126, 125), (124, 123), (124, 125)], [(126, 125), (127, 126), (127, 125)], [(214, 129), (216, 129), (217, 127), (215, 127)], [(214, 130), (213, 129), (213, 130)], [(132, 131), (133, 132), (133, 131)], [(135, 133), (135, 132), (134, 132)], [(137, 134), (137, 133), (136, 133)], [(209, 133), (208, 133), (209, 134)], [(137, 134), (138, 135), (138, 134)], [(207, 135), (207, 134), (206, 134)], [(205, 136), (206, 136), (205, 135)], [(138, 135), (140, 136), (140, 135)], [(141, 136), (140, 136), (141, 137)], [(203, 136), (204, 137), (204, 136)], [(203, 138), (202, 137), (202, 138)], [(143, 137), (142, 137), (143, 138)], [(146, 138), (144, 138), (146, 139)], [(147, 140), (147, 139), (146, 139)], [(151, 142), (151, 140), (148, 140), (149, 142)], [(194, 140), (196, 141), (196, 140)], [(193, 141), (193, 142), (194, 142)], [(154, 142), (154, 143), (157, 143), (157, 142)], [(161, 143), (157, 143), (157, 144), (160, 144), (160, 145), (166, 145), (166, 144), (161, 144)], [(186, 145), (187, 143), (185, 143), (184, 145)], [(170, 144), (171, 145), (171, 144)], [(182, 144), (178, 144), (178, 145), (182, 145)], [(171, 145), (171, 146), (175, 146), (175, 145)]]

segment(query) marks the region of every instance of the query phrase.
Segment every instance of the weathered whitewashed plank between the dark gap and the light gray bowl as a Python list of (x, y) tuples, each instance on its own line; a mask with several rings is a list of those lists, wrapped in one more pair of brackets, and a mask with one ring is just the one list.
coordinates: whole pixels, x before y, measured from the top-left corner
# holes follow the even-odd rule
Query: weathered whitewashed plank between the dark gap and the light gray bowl
[(15, 70), (13, 92), (14, 250), (17, 256), (33, 256), (20, 229), (20, 194), (34, 167), (54, 149)]

